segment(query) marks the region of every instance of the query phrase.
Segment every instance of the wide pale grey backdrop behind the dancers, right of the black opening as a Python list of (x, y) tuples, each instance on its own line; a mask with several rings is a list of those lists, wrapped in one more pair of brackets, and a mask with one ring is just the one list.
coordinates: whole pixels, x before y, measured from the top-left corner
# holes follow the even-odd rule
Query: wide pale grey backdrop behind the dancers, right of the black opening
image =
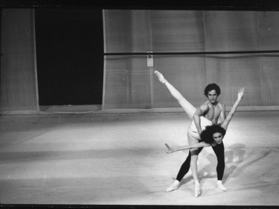
[[(279, 13), (259, 11), (104, 10), (105, 53), (234, 52), (279, 49)], [(153, 70), (192, 104), (216, 83), (229, 107), (246, 88), (244, 109), (278, 109), (279, 54), (105, 56), (104, 109), (179, 107)], [(246, 108), (245, 108), (246, 107)]]

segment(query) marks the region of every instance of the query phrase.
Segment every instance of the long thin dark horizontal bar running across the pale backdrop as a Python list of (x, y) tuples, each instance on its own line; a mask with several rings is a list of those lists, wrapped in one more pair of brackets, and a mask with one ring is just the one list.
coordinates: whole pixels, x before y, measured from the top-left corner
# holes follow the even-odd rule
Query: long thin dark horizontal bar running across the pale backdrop
[(123, 53), (104, 53), (105, 56), (117, 56), (117, 55), (172, 55), (172, 54), (268, 54), (279, 53), (279, 50), (264, 50), (264, 51), (234, 51), (234, 52), (123, 52)]

